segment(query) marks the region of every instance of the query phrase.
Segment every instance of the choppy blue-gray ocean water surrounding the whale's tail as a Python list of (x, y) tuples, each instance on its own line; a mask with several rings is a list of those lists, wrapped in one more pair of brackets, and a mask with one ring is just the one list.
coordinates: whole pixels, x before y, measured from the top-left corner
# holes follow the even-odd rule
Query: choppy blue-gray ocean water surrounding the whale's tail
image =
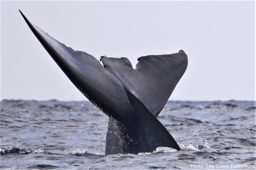
[(158, 119), (181, 150), (104, 156), (108, 117), (87, 101), (3, 100), (3, 169), (255, 169), (254, 101), (168, 101)]

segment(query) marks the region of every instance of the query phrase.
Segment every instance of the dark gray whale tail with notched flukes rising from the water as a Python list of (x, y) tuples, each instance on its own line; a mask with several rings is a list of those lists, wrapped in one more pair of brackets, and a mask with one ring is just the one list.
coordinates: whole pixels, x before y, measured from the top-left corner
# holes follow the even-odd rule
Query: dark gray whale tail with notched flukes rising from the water
[(156, 117), (187, 69), (183, 50), (139, 57), (135, 69), (127, 58), (102, 57), (103, 67), (92, 55), (58, 42), (20, 13), (72, 83), (109, 116), (106, 155), (152, 152), (161, 146), (180, 150)]

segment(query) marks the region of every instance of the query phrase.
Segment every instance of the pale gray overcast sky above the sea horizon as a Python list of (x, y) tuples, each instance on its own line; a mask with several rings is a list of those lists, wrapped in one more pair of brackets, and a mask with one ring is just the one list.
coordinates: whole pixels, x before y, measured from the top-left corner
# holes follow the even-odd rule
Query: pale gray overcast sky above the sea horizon
[(97, 59), (188, 55), (169, 100), (255, 100), (255, 1), (1, 1), (1, 100), (84, 100), (31, 32)]

